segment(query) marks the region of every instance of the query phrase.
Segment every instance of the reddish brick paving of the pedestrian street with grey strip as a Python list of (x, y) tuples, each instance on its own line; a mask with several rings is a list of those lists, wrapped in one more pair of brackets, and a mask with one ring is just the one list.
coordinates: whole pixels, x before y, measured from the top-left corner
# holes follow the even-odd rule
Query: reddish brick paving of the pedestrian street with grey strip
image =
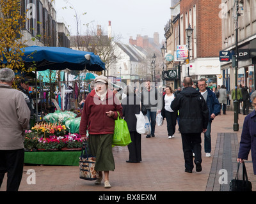
[[(218, 115), (212, 122), (211, 157), (205, 157), (202, 135), (201, 172), (184, 172), (184, 157), (181, 136), (168, 139), (166, 121), (156, 126), (156, 137), (142, 136), (142, 162), (126, 163), (127, 147), (114, 147), (115, 171), (110, 171), (110, 189), (104, 184), (95, 186), (94, 181), (79, 179), (78, 166), (25, 165), (19, 191), (228, 191), (229, 181), (236, 171), (236, 155), (243, 127), (244, 115), (239, 114), (239, 131), (233, 131), (234, 112)], [(177, 126), (178, 129), (178, 126)], [(77, 159), (78, 161), (78, 159)], [(219, 170), (228, 171), (228, 184), (220, 185)], [(27, 171), (36, 172), (36, 184), (27, 184)], [(248, 179), (256, 187), (252, 159), (246, 161)], [(6, 176), (0, 191), (6, 190)]]

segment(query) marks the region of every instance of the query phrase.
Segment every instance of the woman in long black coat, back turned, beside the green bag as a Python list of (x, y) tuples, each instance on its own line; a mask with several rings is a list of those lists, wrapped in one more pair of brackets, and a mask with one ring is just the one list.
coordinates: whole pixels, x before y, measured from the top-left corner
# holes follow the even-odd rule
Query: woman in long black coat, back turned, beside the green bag
[(123, 117), (127, 122), (130, 131), (132, 143), (128, 145), (129, 160), (128, 163), (140, 163), (141, 161), (141, 134), (136, 131), (137, 118), (135, 114), (140, 114), (140, 98), (134, 93), (134, 89), (127, 85), (127, 97), (122, 99)]

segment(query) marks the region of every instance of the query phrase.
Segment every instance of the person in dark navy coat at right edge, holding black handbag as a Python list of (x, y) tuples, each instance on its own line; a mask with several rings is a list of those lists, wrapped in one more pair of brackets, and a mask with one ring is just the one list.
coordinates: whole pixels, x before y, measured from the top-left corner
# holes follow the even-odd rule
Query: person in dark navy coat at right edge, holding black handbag
[[(256, 91), (251, 95), (252, 105), (256, 108)], [(243, 131), (241, 135), (240, 148), (237, 162), (243, 163), (248, 159), (250, 150), (252, 151), (253, 173), (256, 174), (256, 112), (244, 118)]]

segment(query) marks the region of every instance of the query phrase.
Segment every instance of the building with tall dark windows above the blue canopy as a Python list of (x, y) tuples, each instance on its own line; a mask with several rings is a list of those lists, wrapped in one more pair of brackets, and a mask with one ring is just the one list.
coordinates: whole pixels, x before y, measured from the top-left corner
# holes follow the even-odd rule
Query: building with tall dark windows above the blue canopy
[(54, 1), (22, 0), (20, 7), (27, 19), (22, 29), (25, 45), (69, 47), (69, 31), (65, 23), (57, 21)]

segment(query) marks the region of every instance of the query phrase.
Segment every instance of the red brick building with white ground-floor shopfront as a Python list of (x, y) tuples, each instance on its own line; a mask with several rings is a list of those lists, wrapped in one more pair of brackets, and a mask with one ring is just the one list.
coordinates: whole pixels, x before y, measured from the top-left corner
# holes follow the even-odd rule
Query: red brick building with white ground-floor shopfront
[[(179, 1), (179, 32), (173, 31), (173, 39), (177, 39), (179, 34), (180, 45), (188, 45), (186, 29), (189, 25), (193, 29), (192, 36), (189, 38), (189, 64), (186, 61), (180, 61), (181, 81), (189, 75), (195, 81), (200, 78), (209, 78), (210, 86), (222, 83), (218, 77), (221, 73), (219, 52), (222, 39), (220, 4), (221, 0)], [(177, 19), (175, 20), (177, 24)], [(176, 41), (173, 40), (173, 43)]]

